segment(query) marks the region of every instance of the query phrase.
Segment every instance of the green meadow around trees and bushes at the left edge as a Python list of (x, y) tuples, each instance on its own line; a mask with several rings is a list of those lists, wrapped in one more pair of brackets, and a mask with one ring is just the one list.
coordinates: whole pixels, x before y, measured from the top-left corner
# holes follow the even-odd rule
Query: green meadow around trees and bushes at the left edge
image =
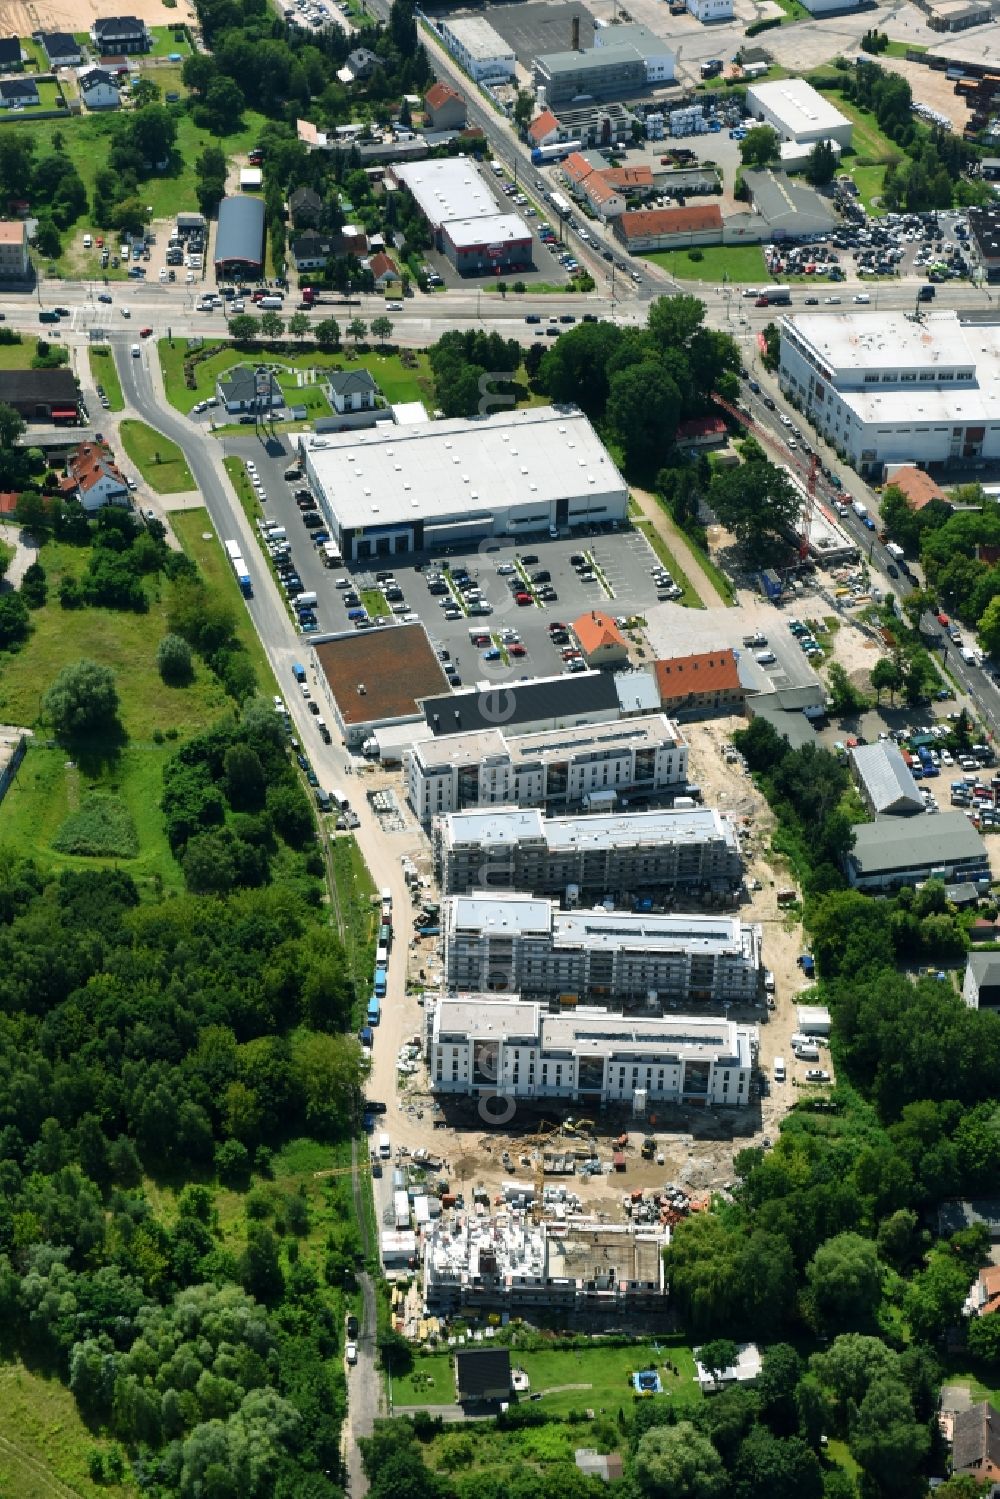
[[(177, 748), (177, 742), (165, 736), (169, 732), (180, 741), (190, 738), (231, 705), (216, 678), (201, 666), (190, 687), (163, 687), (156, 670), (156, 648), (166, 634), (166, 589), (159, 580), (150, 580), (145, 615), (111, 609), (81, 609), (67, 615), (60, 609), (58, 583), (63, 577), (78, 577), (87, 555), (85, 547), (54, 541), (42, 547), (49, 603), (33, 612), (31, 636), (24, 648), (3, 657), (0, 718), (34, 726), (42, 694), (52, 678), (67, 663), (91, 657), (115, 672), (127, 745), (105, 773), (88, 776), (63, 750), (40, 739), (4, 797), (3, 839), (42, 865), (90, 868), (91, 859), (55, 854), (49, 841), (87, 791), (111, 793), (126, 803), (139, 835), (138, 857), (124, 860), (127, 869), (139, 881), (177, 886), (180, 871), (159, 814), (162, 769)], [(232, 588), (235, 591), (235, 580)]]

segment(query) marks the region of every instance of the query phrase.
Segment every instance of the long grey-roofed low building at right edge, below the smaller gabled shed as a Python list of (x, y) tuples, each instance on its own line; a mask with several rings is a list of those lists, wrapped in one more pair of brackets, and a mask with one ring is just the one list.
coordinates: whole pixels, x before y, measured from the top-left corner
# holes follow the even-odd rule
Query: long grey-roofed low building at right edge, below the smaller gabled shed
[(924, 880), (990, 884), (987, 845), (964, 812), (855, 824), (847, 878), (856, 890), (898, 890)]

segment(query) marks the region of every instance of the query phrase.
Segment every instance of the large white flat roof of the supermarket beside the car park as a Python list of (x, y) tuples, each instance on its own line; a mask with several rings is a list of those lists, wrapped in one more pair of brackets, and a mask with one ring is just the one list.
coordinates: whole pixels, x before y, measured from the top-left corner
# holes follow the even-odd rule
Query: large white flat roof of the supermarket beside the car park
[(607, 448), (570, 406), (303, 436), (301, 448), (342, 528), (625, 493)]

